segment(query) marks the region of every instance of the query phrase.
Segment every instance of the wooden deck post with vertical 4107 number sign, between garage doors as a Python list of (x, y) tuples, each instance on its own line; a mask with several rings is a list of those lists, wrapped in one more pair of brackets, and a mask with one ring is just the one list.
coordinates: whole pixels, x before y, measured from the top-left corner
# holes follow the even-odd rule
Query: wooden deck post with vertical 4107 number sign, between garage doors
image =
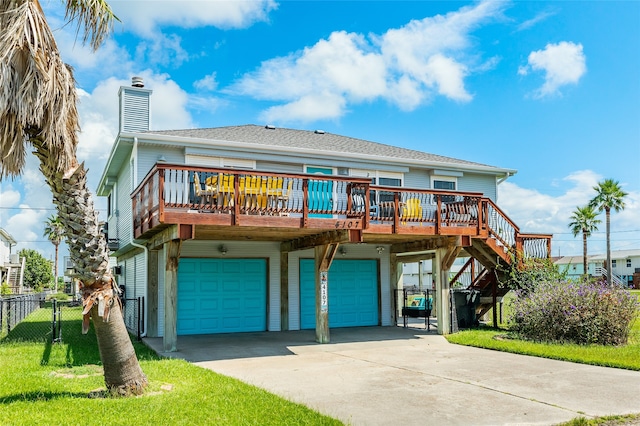
[(314, 248), (316, 280), (316, 342), (329, 343), (329, 268), (339, 243)]

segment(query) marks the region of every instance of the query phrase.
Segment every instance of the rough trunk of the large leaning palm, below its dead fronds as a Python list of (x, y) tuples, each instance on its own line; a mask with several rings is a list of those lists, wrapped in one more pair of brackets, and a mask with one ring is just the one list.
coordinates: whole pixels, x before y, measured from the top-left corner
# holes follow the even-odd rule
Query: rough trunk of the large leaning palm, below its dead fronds
[(73, 158), (71, 166), (58, 171), (44, 142), (31, 137), (40, 159), (40, 171), (53, 193), (53, 202), (65, 228), (69, 254), (82, 282), (83, 332), (93, 324), (104, 367), (105, 385), (118, 394), (139, 394), (147, 384), (121, 314), (115, 279), (109, 269), (109, 252), (100, 232), (98, 214), (87, 187), (84, 164)]

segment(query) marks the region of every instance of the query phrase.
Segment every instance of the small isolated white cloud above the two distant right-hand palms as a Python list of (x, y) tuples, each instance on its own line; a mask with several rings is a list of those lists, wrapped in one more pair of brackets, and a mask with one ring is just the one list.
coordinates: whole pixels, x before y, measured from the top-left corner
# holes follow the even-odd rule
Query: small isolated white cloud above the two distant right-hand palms
[(547, 44), (544, 50), (529, 54), (528, 64), (518, 69), (518, 74), (527, 75), (529, 70), (543, 71), (545, 82), (534, 92), (535, 98), (560, 94), (560, 88), (577, 84), (587, 72), (586, 57), (582, 44), (562, 41)]

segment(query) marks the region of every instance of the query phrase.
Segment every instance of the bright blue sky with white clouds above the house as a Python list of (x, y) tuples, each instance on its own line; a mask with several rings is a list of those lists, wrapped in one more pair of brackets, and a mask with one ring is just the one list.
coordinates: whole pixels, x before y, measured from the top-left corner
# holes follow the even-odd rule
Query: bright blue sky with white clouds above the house
[[(640, 2), (110, 4), (121, 23), (92, 53), (64, 25), (63, 2), (43, 2), (76, 72), (92, 190), (115, 140), (118, 88), (140, 75), (154, 129), (321, 128), (516, 169), (498, 205), (523, 231), (553, 233), (553, 255), (582, 253), (569, 217), (613, 178), (629, 195), (612, 248), (640, 249)], [(53, 257), (42, 237), (50, 199), (35, 158), (0, 183), (0, 227), (18, 249)], [(604, 252), (604, 223), (589, 250)]]

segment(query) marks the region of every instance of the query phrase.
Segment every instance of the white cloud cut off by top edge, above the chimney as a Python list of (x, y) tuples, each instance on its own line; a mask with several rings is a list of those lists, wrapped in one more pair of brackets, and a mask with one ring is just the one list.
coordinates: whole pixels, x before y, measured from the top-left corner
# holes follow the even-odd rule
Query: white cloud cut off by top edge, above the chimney
[(157, 1), (113, 0), (109, 2), (125, 31), (153, 37), (159, 27), (246, 28), (266, 21), (277, 8), (273, 0)]

